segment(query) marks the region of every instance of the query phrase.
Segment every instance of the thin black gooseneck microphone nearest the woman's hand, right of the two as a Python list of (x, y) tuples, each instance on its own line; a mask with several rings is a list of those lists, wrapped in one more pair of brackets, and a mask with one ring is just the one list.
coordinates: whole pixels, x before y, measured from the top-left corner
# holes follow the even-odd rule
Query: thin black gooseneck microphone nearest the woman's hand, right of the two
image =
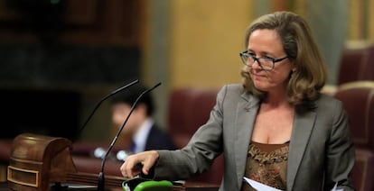
[(137, 96), (136, 98), (136, 101), (133, 103), (133, 105), (131, 105), (131, 109), (130, 109), (130, 112), (127, 114), (126, 116), (126, 120), (124, 123), (122, 123), (121, 125), (121, 128), (119, 128), (115, 138), (113, 139), (113, 141), (110, 143), (109, 147), (108, 147), (108, 150), (107, 152), (105, 153), (105, 156), (104, 158), (101, 160), (101, 171), (100, 173), (98, 174), (98, 190), (99, 191), (104, 191), (104, 186), (105, 186), (105, 177), (104, 177), (104, 168), (105, 168), (105, 162), (108, 158), (108, 154), (110, 153), (110, 150), (112, 150), (113, 146), (115, 145), (119, 135), (121, 134), (122, 130), (124, 129), (127, 121), (128, 121), (128, 118), (130, 118), (130, 115), (133, 114), (134, 112), (134, 109), (136, 108), (136, 104), (137, 102), (140, 100), (140, 98), (142, 98), (143, 95), (147, 94), (148, 92), (154, 90), (154, 88), (156, 88), (157, 86), (160, 86), (161, 85), (161, 82), (157, 83), (156, 85), (154, 85), (152, 88), (148, 88), (146, 89), (145, 91), (143, 91), (139, 96)]

